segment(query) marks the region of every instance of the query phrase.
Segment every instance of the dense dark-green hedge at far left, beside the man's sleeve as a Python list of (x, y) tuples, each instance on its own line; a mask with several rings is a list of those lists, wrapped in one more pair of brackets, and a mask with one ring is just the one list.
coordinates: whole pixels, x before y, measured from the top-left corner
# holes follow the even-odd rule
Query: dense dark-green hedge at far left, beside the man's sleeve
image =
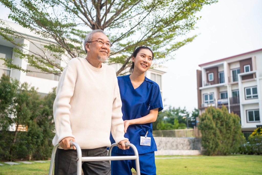
[[(0, 160), (51, 157), (55, 88), (41, 99), (34, 87), (3, 75), (0, 94)], [(18, 131), (19, 125), (27, 126), (27, 132)]]

